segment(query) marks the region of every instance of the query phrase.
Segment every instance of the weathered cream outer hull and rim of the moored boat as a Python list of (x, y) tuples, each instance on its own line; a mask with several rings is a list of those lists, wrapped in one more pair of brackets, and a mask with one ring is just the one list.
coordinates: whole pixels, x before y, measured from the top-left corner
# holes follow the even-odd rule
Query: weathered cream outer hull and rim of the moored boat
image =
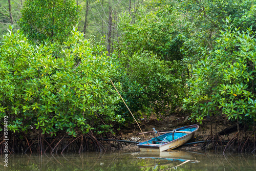
[[(199, 126), (198, 125), (190, 125), (190, 126), (185, 126), (180, 129), (177, 129), (177, 130), (181, 131), (183, 129), (188, 129), (191, 127), (195, 128), (195, 130), (191, 131), (190, 133), (188, 133), (184, 136), (181, 136), (180, 138), (177, 138), (173, 141), (167, 142), (165, 144), (154, 144), (154, 143), (152, 143), (153, 142), (152, 140), (147, 141), (147, 142), (149, 142), (149, 144), (146, 141), (139, 143), (138, 146), (140, 148), (140, 151), (142, 151), (142, 152), (163, 152), (163, 151), (166, 151), (167, 149), (173, 149), (178, 146), (181, 146), (195, 136), (195, 132), (198, 130)], [(178, 133), (175, 133), (175, 134), (178, 134)], [(164, 134), (161, 136), (164, 137), (167, 135), (170, 135), (170, 134), (166, 133), (166, 135)]]

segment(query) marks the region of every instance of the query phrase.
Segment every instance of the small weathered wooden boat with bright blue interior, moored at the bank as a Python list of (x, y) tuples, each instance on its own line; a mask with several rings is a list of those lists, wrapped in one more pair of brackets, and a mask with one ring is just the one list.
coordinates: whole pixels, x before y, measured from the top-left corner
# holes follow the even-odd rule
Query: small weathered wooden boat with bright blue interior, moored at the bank
[(189, 125), (180, 127), (171, 132), (155, 137), (151, 140), (137, 144), (140, 151), (145, 152), (163, 152), (167, 149), (173, 149), (185, 144), (188, 140), (195, 136), (195, 132), (199, 129), (198, 125)]

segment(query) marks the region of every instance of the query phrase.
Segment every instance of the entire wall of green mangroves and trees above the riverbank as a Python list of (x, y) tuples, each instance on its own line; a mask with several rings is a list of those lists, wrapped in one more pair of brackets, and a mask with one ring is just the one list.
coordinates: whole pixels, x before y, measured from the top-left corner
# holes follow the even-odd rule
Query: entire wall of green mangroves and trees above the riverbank
[(225, 114), (254, 132), (255, 0), (8, 2), (0, 118), (19, 137), (13, 146), (29, 149), (35, 132), (40, 152), (65, 135), (62, 148), (77, 142), (80, 152), (84, 138), (115, 134), (132, 117), (110, 79), (136, 118), (182, 106), (191, 121)]

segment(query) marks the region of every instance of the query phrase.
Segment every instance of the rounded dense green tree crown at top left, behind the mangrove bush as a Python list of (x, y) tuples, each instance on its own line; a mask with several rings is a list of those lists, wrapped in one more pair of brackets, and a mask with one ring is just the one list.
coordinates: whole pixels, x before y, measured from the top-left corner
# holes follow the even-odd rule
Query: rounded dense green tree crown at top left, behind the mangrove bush
[(80, 7), (74, 0), (24, 2), (20, 28), (35, 41), (65, 41), (80, 18)]

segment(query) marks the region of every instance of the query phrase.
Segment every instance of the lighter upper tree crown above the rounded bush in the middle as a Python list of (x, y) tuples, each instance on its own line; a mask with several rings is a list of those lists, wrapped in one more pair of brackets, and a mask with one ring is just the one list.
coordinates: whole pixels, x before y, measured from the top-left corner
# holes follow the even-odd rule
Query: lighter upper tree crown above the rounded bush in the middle
[(151, 51), (160, 59), (180, 60), (179, 48), (182, 41), (179, 30), (182, 29), (180, 14), (177, 9), (164, 6), (156, 12), (146, 13), (139, 9), (134, 23), (129, 13), (123, 13), (119, 18), (119, 29), (122, 37), (119, 39), (120, 53), (132, 56), (138, 51)]

